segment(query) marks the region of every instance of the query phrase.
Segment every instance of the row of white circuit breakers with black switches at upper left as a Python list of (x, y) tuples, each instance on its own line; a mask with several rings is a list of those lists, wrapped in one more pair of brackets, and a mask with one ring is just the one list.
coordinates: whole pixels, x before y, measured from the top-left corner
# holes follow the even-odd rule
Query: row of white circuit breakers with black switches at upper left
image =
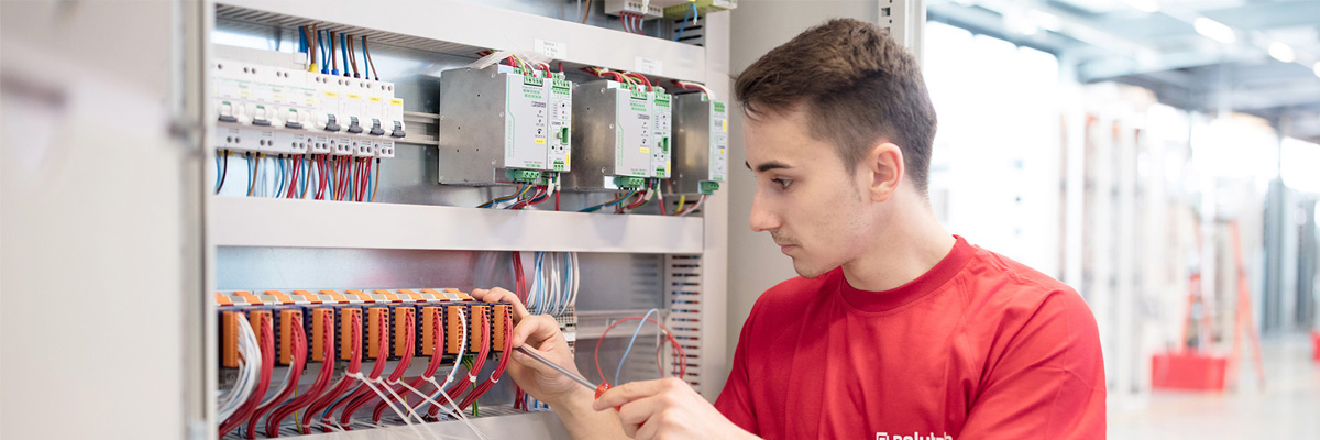
[(407, 135), (393, 83), (232, 59), (211, 77), (216, 149), (393, 157)]

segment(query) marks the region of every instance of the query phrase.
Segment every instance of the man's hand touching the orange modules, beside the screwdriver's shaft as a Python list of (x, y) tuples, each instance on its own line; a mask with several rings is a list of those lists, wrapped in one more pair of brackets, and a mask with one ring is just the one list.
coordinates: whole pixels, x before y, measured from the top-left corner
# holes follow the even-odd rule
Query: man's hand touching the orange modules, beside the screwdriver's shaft
[[(523, 303), (517, 300), (517, 295), (498, 287), (492, 289), (474, 289), (473, 297), (486, 303), (513, 304), (513, 348), (527, 346), (569, 371), (578, 371), (573, 363), (573, 353), (569, 351), (569, 344), (564, 340), (564, 333), (560, 333), (560, 325), (553, 317), (549, 314), (529, 314)], [(512, 354), (513, 362), (508, 365), (508, 374), (513, 377), (513, 382), (517, 382), (517, 386), (523, 387), (527, 394), (537, 400), (545, 402), (552, 407), (560, 407), (576, 394), (587, 394), (590, 396), (590, 390), (558, 371), (541, 365), (541, 362), (525, 354), (517, 351)]]

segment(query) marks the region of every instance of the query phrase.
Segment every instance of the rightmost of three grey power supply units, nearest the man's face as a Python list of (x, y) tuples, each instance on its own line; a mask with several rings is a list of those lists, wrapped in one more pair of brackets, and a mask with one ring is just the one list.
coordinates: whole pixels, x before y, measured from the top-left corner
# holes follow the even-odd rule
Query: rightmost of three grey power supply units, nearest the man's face
[(673, 99), (675, 194), (711, 194), (729, 177), (729, 107), (704, 92)]

